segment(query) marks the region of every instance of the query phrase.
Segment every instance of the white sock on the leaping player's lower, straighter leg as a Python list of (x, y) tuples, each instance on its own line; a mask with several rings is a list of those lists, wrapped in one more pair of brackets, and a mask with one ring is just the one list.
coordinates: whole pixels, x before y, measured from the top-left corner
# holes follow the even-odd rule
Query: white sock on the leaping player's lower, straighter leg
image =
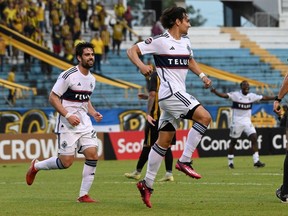
[(150, 150), (148, 157), (147, 172), (144, 178), (147, 187), (152, 188), (157, 172), (162, 163), (163, 157), (166, 154), (167, 149), (158, 146), (156, 143)]

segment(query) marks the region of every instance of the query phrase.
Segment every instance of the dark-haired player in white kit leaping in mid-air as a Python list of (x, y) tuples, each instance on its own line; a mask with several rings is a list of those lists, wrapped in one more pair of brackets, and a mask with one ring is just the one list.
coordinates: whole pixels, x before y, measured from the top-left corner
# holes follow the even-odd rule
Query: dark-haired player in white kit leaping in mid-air
[(145, 65), (138, 56), (153, 54), (160, 78), (158, 95), (162, 112), (158, 126), (159, 137), (149, 153), (145, 178), (137, 183), (142, 200), (149, 208), (152, 207), (150, 196), (153, 183), (175, 134), (177, 121), (184, 118), (195, 122), (188, 133), (176, 169), (196, 179), (201, 178), (201, 175), (192, 168), (191, 157), (211, 122), (209, 112), (194, 96), (186, 92), (185, 80), (189, 69), (200, 77), (205, 88), (211, 85), (211, 80), (200, 70), (193, 58), (191, 43), (187, 37), (190, 23), (186, 10), (182, 7), (166, 9), (161, 16), (161, 23), (165, 29), (168, 29), (166, 32), (139, 42), (127, 50), (129, 59), (144, 76), (150, 75), (153, 68)]

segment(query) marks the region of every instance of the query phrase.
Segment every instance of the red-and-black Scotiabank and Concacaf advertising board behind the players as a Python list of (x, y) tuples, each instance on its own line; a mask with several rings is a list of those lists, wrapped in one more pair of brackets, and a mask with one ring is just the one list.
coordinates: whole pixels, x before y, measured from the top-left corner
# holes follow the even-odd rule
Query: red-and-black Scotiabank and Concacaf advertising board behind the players
[[(172, 146), (174, 158), (179, 158), (183, 152), (187, 140), (188, 130), (177, 130), (176, 144)], [(283, 128), (259, 128), (257, 129), (257, 145), (260, 155), (285, 154), (287, 144), (285, 129)], [(142, 150), (144, 133), (112, 132), (104, 135), (104, 158), (106, 160), (138, 159)], [(229, 129), (210, 129), (202, 137), (192, 158), (227, 156), (230, 145)], [(238, 140), (234, 154), (252, 155), (251, 142), (242, 135)]]

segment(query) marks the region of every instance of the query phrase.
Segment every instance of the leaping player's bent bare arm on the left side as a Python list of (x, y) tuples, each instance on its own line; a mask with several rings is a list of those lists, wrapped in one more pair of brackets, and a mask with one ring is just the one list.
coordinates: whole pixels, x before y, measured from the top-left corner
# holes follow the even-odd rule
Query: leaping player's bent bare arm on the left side
[(137, 45), (133, 45), (127, 50), (127, 56), (131, 62), (139, 68), (144, 76), (149, 76), (153, 72), (153, 67), (151, 67), (151, 65), (145, 65), (139, 58), (139, 54), (141, 54), (141, 52)]

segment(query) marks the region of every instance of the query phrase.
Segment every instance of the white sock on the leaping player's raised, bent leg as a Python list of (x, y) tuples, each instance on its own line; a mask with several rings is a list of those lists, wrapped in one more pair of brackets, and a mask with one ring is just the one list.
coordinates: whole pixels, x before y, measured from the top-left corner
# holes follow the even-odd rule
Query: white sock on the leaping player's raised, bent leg
[(204, 132), (207, 127), (201, 125), (200, 123), (195, 123), (193, 127), (189, 130), (188, 137), (184, 146), (184, 151), (179, 158), (181, 162), (190, 162), (193, 152), (198, 146)]

